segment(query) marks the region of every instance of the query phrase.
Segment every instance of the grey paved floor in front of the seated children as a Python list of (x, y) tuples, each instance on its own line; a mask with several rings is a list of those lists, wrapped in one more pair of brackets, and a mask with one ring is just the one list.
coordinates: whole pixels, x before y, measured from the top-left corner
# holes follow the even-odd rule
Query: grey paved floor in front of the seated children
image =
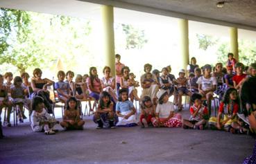
[[(188, 118), (188, 111), (182, 111)], [(0, 163), (241, 163), (253, 151), (252, 136), (225, 131), (140, 127), (95, 129), (46, 136), (29, 123), (3, 127)]]

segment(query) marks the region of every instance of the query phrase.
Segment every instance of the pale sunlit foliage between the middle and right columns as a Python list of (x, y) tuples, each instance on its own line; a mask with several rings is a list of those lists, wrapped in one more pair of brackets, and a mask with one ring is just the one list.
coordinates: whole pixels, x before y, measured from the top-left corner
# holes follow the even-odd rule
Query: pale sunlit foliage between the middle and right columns
[(210, 46), (214, 46), (219, 41), (219, 39), (215, 39), (210, 35), (196, 34), (196, 37), (198, 39), (199, 48), (204, 51), (206, 51)]

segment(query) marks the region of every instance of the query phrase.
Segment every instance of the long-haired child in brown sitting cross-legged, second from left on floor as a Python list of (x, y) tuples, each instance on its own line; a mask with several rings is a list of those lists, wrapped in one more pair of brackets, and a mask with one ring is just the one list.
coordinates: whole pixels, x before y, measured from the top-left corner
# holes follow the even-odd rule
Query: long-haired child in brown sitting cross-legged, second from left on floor
[(85, 121), (80, 118), (80, 111), (78, 110), (78, 102), (76, 98), (71, 97), (67, 100), (67, 109), (65, 109), (64, 116), (60, 125), (65, 129), (83, 129)]

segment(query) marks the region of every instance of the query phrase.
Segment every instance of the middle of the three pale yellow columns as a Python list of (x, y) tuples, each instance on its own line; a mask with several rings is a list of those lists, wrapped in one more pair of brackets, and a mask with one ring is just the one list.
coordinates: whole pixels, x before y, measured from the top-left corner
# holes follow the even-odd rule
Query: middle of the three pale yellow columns
[(179, 20), (180, 26), (180, 69), (187, 69), (189, 64), (189, 22), (187, 19)]

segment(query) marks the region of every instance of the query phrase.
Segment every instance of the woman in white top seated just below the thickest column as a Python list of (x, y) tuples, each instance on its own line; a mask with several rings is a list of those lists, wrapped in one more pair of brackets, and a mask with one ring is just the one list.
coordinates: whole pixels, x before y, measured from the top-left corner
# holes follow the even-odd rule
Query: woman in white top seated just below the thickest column
[(109, 66), (105, 66), (103, 69), (104, 77), (101, 78), (101, 87), (103, 91), (108, 92), (111, 95), (111, 98), (114, 102), (117, 102), (117, 94), (115, 93), (116, 89), (116, 80), (110, 75), (111, 69)]

